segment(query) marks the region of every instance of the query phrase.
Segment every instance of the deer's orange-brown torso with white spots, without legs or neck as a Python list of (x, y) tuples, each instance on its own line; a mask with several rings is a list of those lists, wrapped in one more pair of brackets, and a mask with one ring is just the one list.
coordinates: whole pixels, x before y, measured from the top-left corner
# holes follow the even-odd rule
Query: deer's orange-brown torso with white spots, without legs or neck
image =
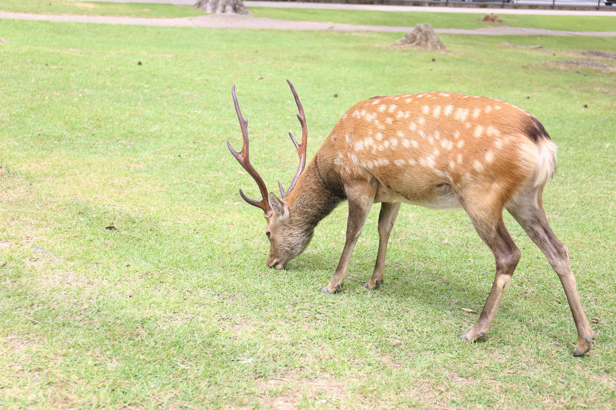
[(330, 158), (345, 181), (378, 179), (383, 192), (377, 196), (448, 208), (459, 205), (452, 202), (454, 191), (489, 189), (510, 198), (535, 177), (545, 141), (543, 126), (521, 108), (431, 92), (360, 101), (319, 155)]

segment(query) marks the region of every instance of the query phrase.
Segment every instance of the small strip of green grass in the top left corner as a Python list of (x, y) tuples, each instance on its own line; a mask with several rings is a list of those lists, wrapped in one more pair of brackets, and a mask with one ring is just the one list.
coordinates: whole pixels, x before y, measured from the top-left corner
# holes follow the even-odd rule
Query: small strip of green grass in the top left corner
[(0, 10), (34, 14), (113, 15), (121, 17), (190, 17), (203, 15), (192, 7), (171, 4), (110, 3), (76, 0), (0, 0)]

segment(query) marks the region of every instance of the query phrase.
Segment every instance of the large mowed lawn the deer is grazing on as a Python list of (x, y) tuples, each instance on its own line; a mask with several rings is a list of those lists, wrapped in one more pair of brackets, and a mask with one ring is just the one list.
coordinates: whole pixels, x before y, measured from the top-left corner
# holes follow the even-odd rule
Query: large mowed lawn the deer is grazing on
[[(4, 408), (616, 406), (616, 60), (580, 53), (614, 52), (616, 38), (441, 36), (450, 52), (430, 53), (392, 48), (391, 33), (9, 20), (0, 36)], [(241, 148), (230, 88), (275, 191), (297, 166), (286, 78), (309, 159), (374, 95), (460, 92), (535, 114), (559, 146), (544, 205), (569, 245), (593, 350), (570, 354), (564, 291), (509, 215), (522, 260), (476, 344), (458, 340), (478, 317), (461, 308), (480, 312), (494, 261), (463, 211), (403, 205), (377, 291), (362, 282), (379, 205), (346, 293), (318, 291), (346, 204), (286, 270), (267, 268), (264, 219), (237, 192), (258, 191), (225, 147)]]

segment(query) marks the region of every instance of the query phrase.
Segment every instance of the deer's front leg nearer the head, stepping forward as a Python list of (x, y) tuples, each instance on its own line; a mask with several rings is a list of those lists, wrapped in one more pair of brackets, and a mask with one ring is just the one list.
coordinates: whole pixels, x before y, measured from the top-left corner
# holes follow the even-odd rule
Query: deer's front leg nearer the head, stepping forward
[(325, 293), (336, 293), (342, 289), (355, 243), (362, 234), (366, 218), (375, 200), (376, 189), (368, 181), (354, 181), (352, 184), (346, 184), (345, 189), (349, 199), (346, 242), (334, 277), (331, 278), (329, 285), (321, 288)]

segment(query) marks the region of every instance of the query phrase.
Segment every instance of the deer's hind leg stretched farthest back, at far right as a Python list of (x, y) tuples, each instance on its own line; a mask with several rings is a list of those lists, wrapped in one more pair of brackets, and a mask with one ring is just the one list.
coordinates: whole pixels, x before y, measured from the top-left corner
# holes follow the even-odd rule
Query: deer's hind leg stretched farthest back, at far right
[(548, 219), (541, 203), (541, 191), (543, 187), (521, 194), (507, 209), (545, 254), (549, 264), (561, 280), (578, 333), (578, 344), (572, 353), (573, 356), (582, 356), (592, 346), (593, 330), (590, 328), (580, 302), (575, 277), (569, 264), (569, 250), (567, 250), (567, 245), (556, 238), (548, 225)]

